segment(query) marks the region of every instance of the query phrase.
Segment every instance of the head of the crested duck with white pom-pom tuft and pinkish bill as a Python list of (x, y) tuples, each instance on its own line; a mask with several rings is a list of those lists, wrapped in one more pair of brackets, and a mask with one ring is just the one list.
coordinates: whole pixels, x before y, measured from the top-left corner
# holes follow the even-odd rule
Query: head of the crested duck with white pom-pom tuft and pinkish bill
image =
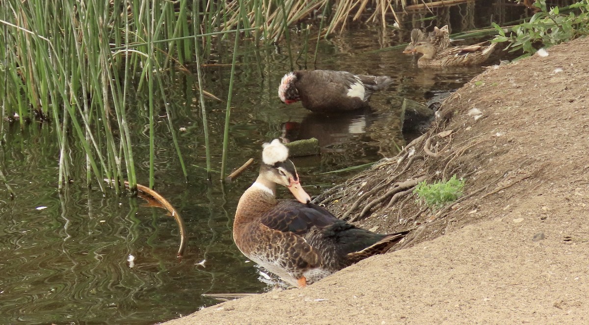
[(258, 179), (286, 186), (300, 203), (309, 203), (311, 197), (300, 185), (299, 174), (293, 162), (289, 160), (289, 149), (279, 139), (264, 143), (263, 148), (263, 163)]

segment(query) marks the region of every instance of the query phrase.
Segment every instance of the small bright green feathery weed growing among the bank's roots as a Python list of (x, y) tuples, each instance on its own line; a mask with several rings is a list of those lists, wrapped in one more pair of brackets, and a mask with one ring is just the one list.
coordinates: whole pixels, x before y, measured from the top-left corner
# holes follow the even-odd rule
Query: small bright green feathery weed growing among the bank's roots
[(417, 193), (419, 200), (434, 211), (461, 197), (462, 188), (464, 179), (458, 179), (453, 175), (448, 181), (435, 181), (433, 184), (422, 181), (417, 184), (413, 193)]

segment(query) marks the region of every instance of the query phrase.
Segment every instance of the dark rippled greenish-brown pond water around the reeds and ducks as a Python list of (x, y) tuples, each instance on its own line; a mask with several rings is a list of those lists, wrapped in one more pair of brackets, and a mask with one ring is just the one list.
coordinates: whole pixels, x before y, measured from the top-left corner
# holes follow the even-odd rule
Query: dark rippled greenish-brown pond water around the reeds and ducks
[[(294, 159), (307, 192), (317, 195), (358, 171), (323, 173), (390, 157), (405, 145), (399, 131), (403, 98), (425, 102), (429, 92), (456, 89), (482, 71), (418, 69), (415, 59), (403, 55), (402, 49), (369, 54), (383, 46), (382, 39), (375, 37), (378, 33), (382, 35), (366, 28), (322, 41), (316, 65), (307, 64), (307, 68), (390, 75), (396, 80), (388, 91), (373, 95), (371, 112), (344, 117), (319, 117), (300, 104), (281, 104), (277, 85), (290, 70), (284, 48), (264, 49), (256, 59), (254, 49), (244, 42), (234, 84), (229, 168), (259, 158), (262, 143), (280, 137), (286, 129), (291, 140), (317, 137), (320, 156)], [(221, 47), (232, 44), (228, 40)], [(229, 52), (219, 49), (226, 55), (213, 56), (204, 67), (204, 88), (220, 98), (226, 98), (229, 84), (230, 67), (222, 65), (230, 62)], [(16, 197), (11, 200), (6, 188), (0, 188), (0, 323), (152, 324), (218, 302), (202, 297), (204, 293), (267, 289), (257, 268), (231, 238), (237, 200), (253, 182), (257, 167), (231, 184), (221, 183), (217, 173), (207, 181), (195, 75), (173, 74), (168, 89), (174, 127), (186, 128), (178, 132), (178, 140), (188, 167), (187, 181), (163, 108), (155, 140), (155, 190), (181, 213), (188, 230), (182, 259), (176, 257), (177, 225), (164, 210), (148, 207), (132, 195), (101, 193), (97, 186), (87, 188), (75, 179), (68, 190), (58, 193), (53, 124), (32, 122), (21, 129), (5, 122), (0, 165)], [(225, 106), (207, 100), (216, 171), (221, 167)], [(148, 112), (137, 105), (128, 108), (128, 114), (133, 120), (138, 181), (147, 185)], [(74, 161), (72, 174), (84, 175), (82, 151), (69, 154)], [(289, 197), (283, 190), (279, 195)], [(133, 263), (129, 256), (134, 256)], [(199, 264), (203, 260), (204, 265)]]

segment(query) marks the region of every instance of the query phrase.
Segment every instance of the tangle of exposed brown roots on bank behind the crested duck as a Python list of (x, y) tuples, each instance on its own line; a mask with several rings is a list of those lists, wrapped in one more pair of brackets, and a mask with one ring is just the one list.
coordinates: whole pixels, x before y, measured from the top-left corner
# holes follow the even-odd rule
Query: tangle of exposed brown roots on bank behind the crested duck
[[(443, 233), (451, 221), (461, 219), (452, 215), (470, 207), (473, 199), (485, 198), (535, 175), (523, 175), (497, 187), (498, 182), (505, 180), (511, 173), (495, 177), (489, 175), (488, 170), (480, 170), (479, 161), (489, 157), (485, 157), (479, 148), (494, 146), (498, 137), (494, 136), (494, 132), (485, 132), (475, 137), (458, 137), (457, 134), (460, 135), (461, 130), (444, 130), (453, 112), (454, 110), (446, 110), (446, 115), (442, 112), (438, 125), (406, 145), (396, 157), (383, 158), (369, 170), (319, 195), (315, 201), (328, 205), (333, 211), (341, 211), (341, 218), (350, 222), (391, 222), (384, 225), (389, 228), (388, 231), (416, 227), (401, 246), (407, 247), (428, 238), (429, 234), (438, 231)], [(454, 127), (456, 128), (456, 125)], [(429, 209), (416, 200), (417, 196), (413, 193), (415, 186), (422, 181), (447, 180), (452, 175), (466, 180), (465, 195), (435, 211), (434, 214), (427, 213)], [(485, 175), (484, 183), (475, 187), (481, 181), (482, 175)], [(494, 187), (494, 190), (481, 196), (481, 193)], [(469, 203), (464, 206), (457, 205), (465, 201)], [(367, 219), (370, 215), (394, 217), (370, 221)]]

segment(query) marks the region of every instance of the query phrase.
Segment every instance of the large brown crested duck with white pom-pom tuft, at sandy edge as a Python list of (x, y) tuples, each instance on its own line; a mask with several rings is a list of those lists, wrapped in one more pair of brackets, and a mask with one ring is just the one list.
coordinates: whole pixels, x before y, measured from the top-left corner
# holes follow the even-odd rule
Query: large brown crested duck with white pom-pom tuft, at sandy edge
[[(296, 201), (277, 200), (276, 185)], [(293, 287), (386, 253), (408, 233), (373, 233), (310, 201), (287, 147), (279, 139), (264, 144), (259, 175), (237, 204), (233, 239), (244, 256)]]

